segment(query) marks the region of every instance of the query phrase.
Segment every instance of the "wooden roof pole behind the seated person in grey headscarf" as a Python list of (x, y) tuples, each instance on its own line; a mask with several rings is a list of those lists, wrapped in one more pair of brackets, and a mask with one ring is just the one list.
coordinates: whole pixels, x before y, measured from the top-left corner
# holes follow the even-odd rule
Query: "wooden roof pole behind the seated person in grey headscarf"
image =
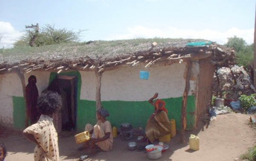
[(100, 63), (96, 63), (95, 76), (96, 76), (96, 110), (101, 108), (101, 77), (102, 72), (99, 72), (98, 67)]

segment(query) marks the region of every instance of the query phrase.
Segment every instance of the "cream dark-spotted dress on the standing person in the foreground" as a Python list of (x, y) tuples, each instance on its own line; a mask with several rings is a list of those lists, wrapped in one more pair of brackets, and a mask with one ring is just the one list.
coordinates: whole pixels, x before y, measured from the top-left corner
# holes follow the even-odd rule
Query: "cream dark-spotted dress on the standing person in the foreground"
[(34, 148), (35, 161), (59, 161), (58, 134), (52, 118), (41, 115), (36, 124), (29, 126), (23, 132), (32, 134), (38, 142)]

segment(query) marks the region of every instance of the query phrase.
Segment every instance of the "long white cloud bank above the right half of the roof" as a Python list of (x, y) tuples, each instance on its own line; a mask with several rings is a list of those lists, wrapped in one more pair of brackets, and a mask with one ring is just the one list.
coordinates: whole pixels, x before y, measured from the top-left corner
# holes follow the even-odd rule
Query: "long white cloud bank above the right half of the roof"
[(165, 29), (150, 28), (144, 26), (129, 27), (127, 34), (112, 35), (107, 40), (121, 40), (121, 39), (135, 39), (135, 38), (183, 38), (183, 39), (205, 39), (217, 42), (218, 44), (224, 44), (227, 42), (228, 37), (241, 37), (246, 43), (252, 44), (254, 37), (254, 29), (241, 30), (237, 28), (229, 29), (225, 32), (214, 30), (185, 30), (177, 29), (174, 27), (166, 27)]

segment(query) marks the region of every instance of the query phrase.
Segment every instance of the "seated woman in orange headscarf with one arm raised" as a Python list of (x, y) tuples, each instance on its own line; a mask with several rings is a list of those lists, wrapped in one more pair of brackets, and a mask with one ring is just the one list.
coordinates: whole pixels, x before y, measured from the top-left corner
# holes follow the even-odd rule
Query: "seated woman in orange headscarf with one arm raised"
[(165, 136), (171, 133), (172, 124), (167, 116), (168, 110), (165, 108), (165, 102), (161, 99), (157, 99), (158, 93), (155, 93), (152, 98), (148, 100), (151, 105), (154, 106), (155, 111), (148, 119), (146, 124), (146, 137), (153, 144), (161, 136)]

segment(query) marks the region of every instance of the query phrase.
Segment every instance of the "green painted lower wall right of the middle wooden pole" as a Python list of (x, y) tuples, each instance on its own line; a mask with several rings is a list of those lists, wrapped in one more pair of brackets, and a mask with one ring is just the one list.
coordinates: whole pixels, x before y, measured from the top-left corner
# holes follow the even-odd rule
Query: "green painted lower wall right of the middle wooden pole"
[[(169, 111), (169, 119), (174, 119), (176, 129), (181, 128), (181, 102), (180, 98), (163, 99), (166, 102), (166, 109)], [(154, 112), (154, 107), (148, 101), (103, 101), (102, 105), (110, 113), (108, 120), (113, 126), (120, 127), (124, 122), (129, 122), (133, 127), (145, 128), (148, 118)], [(195, 97), (189, 96), (187, 103), (187, 130), (193, 129), (195, 124)]]

